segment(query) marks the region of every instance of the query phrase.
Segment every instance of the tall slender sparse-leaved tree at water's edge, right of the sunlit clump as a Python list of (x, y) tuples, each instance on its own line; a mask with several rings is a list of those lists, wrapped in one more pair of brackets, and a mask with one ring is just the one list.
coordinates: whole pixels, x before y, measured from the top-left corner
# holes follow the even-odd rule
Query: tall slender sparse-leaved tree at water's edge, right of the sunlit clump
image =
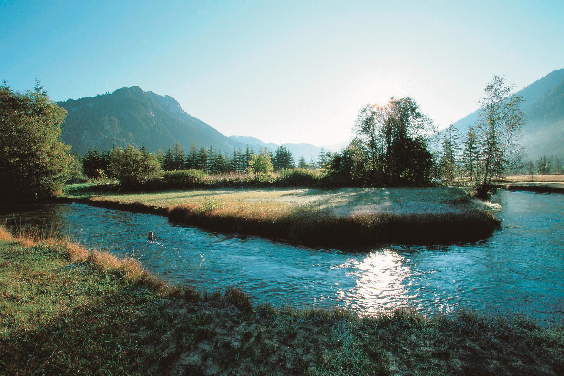
[(478, 101), (476, 133), (481, 144), (482, 177), (474, 189), (482, 199), (496, 191), (492, 187), (493, 178), (502, 177), (522, 157), (520, 141), (525, 114), (519, 106), (523, 97), (512, 94), (512, 88), (505, 84), (505, 77), (495, 75)]

